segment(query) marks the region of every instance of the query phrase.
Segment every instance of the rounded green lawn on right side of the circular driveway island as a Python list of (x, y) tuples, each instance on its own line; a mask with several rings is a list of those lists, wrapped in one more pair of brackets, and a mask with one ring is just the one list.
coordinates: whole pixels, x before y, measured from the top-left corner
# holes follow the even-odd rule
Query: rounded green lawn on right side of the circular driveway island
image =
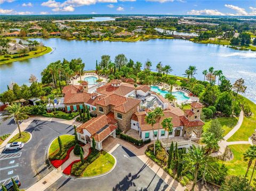
[(103, 151), (98, 159), (93, 161), (83, 172), (84, 177), (91, 177), (96, 175), (101, 175), (111, 168), (115, 164), (115, 159), (112, 155)]

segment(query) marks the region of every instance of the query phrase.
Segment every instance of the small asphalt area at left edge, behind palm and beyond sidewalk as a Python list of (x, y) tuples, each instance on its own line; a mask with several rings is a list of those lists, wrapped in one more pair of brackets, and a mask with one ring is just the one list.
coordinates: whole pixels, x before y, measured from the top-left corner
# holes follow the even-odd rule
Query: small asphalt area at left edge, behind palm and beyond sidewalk
[(3, 118), (5, 117), (3, 115), (4, 115), (4, 112), (1, 112), (0, 113), (0, 136), (5, 134), (11, 134), (17, 128), (17, 124), (14, 122), (13, 118), (3, 121)]

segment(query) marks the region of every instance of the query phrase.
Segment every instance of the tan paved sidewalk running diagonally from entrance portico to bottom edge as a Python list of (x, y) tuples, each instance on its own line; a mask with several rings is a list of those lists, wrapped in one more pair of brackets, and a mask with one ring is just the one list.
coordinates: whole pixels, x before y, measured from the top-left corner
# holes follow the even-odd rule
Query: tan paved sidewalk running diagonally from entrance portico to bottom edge
[(105, 151), (107, 152), (112, 152), (113, 149), (116, 147), (116, 145), (122, 145), (126, 148), (128, 148), (130, 151), (132, 151), (135, 155), (139, 157), (139, 159), (147, 164), (147, 166), (153, 170), (159, 177), (161, 177), (164, 182), (169, 185), (166, 190), (180, 190), (183, 191), (186, 189), (186, 187), (182, 186), (180, 182), (172, 178), (167, 172), (165, 172), (161, 167), (159, 167), (154, 161), (149, 159), (148, 156), (145, 155), (145, 151), (147, 150), (148, 145), (144, 145), (141, 148), (137, 148), (133, 146), (132, 144), (125, 142), (122, 139), (119, 138), (113, 138), (113, 137), (108, 137), (108, 139), (103, 142), (102, 147), (104, 148)]

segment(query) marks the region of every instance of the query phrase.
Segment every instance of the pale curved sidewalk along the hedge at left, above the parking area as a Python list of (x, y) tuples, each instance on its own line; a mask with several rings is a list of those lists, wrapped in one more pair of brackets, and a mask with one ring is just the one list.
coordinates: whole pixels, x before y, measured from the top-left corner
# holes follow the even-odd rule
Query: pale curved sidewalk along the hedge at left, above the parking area
[[(31, 116), (30, 118), (23, 120), (22, 123), (20, 124), (20, 130), (25, 131), (25, 129), (27, 129), (27, 127), (29, 126), (29, 124), (33, 121), (33, 120), (42, 120), (42, 121), (52, 121), (52, 122), (59, 122), (59, 123), (65, 123), (68, 124), (70, 126), (79, 126), (82, 123), (79, 123), (74, 119), (71, 120), (65, 120), (65, 119), (58, 119), (58, 118), (46, 118), (46, 117), (41, 117), (41, 116)], [(17, 135), (19, 133), (19, 129), (17, 126), (17, 129), (15, 129), (12, 134), (4, 140), (4, 142), (1, 144), (0, 147), (0, 152), (2, 152), (4, 150), (4, 147), (7, 145), (7, 143), (9, 142), (9, 140), (11, 140), (12, 137), (14, 137), (15, 135)]]

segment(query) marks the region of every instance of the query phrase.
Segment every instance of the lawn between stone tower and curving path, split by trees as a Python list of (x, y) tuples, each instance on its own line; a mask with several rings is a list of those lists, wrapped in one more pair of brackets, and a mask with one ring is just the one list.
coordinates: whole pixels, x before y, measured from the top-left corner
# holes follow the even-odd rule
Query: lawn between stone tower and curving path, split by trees
[[(224, 136), (228, 134), (228, 132), (233, 129), (238, 121), (238, 118), (236, 117), (222, 117), (222, 118), (217, 118), (218, 121), (220, 122), (222, 129), (224, 130)], [(211, 120), (205, 120), (205, 124), (203, 126), (203, 130), (205, 131), (209, 126)]]

